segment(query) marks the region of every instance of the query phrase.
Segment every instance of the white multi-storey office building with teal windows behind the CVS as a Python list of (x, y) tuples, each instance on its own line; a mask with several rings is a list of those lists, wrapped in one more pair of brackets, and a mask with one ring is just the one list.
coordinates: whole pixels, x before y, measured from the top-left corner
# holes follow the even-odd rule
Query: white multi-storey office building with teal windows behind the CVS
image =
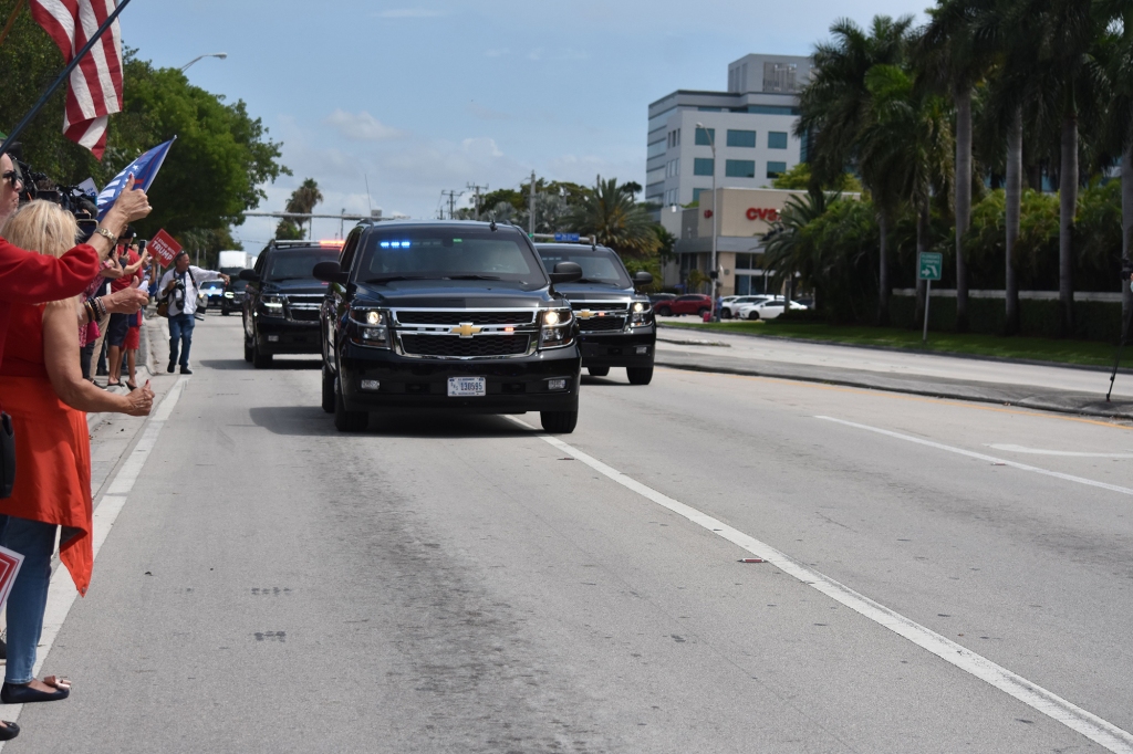
[(666, 230), (681, 234), (681, 213), (668, 209), (698, 202), (714, 173), (718, 188), (769, 188), (806, 161), (792, 131), (811, 66), (810, 58), (750, 54), (727, 67), (727, 92), (678, 89), (649, 105), (645, 198), (664, 205)]

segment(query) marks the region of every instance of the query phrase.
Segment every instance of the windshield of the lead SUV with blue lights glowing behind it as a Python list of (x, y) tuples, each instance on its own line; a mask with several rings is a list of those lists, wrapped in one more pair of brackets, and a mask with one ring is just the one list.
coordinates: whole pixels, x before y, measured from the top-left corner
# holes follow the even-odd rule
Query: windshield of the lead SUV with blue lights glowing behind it
[(547, 284), (523, 239), (512, 232), (469, 228), (419, 228), (372, 234), (359, 282), (397, 280), (486, 280), (520, 283), (527, 290)]

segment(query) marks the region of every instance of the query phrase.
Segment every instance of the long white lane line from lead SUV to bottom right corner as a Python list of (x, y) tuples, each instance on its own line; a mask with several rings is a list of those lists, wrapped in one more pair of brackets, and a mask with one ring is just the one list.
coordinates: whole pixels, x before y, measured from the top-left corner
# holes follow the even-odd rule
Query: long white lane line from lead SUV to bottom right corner
[[(506, 418), (525, 429), (533, 429), (530, 425), (520, 419), (514, 417)], [(748, 552), (763, 558), (783, 573), (786, 573), (808, 586), (818, 590), (840, 605), (850, 608), (879, 626), (888, 628), (893, 633), (909, 640), (921, 649), (931, 652), (945, 662), (948, 662), (964, 672), (976, 676), (977, 678), (990, 684), (1005, 694), (1013, 696), (1031, 709), (1041, 712), (1050, 719), (1063, 723), (1067, 728), (1082, 734), (1090, 740), (1104, 746), (1110, 752), (1133, 754), (1133, 735), (1122, 728), (1118, 728), (1117, 726), (1102, 720), (1098, 716), (1076, 706), (1057, 694), (1031, 683), (1026, 678), (996, 665), (986, 657), (961, 646), (954, 641), (942, 636), (935, 631), (927, 628), (910, 618), (906, 618), (900, 612), (875, 602), (863, 594), (859, 594), (845, 584), (838, 583), (837, 581), (834, 581), (817, 571), (808, 568), (784, 552), (776, 550), (770, 545), (761, 542), (758, 539), (739, 531), (738, 529), (729, 526), (722, 521), (717, 521), (706, 513), (701, 513), (684, 503), (675, 500), (663, 492), (658, 492), (651, 487), (642, 485), (636, 479), (632, 479), (616, 469), (606, 465), (602, 461), (582, 453), (571, 445), (568, 445), (557, 437), (540, 434), (539, 438), (556, 449), (571, 455), (578, 461), (581, 461), (622, 487), (637, 492), (646, 499), (653, 500), (657, 505), (688, 519), (692, 523), (707, 529), (714, 534), (718, 534)]]

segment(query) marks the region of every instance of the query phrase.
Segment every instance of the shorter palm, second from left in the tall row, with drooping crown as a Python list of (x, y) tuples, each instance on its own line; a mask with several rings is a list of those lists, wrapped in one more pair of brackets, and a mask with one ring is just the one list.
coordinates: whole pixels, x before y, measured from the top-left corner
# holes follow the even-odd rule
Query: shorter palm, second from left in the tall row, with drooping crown
[[(919, 89), (898, 66), (875, 66), (866, 76), (870, 122), (860, 138), (863, 175), (885, 177), (917, 214), (917, 251), (928, 250), (932, 197), (951, 188), (953, 138), (944, 97)], [(917, 284), (918, 314), (925, 285)]]

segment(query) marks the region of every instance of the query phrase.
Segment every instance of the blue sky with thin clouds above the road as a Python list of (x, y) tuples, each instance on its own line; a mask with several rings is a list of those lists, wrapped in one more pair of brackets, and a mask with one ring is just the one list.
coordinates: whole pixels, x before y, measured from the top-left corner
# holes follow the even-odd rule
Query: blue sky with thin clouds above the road
[[(320, 211), (435, 216), (441, 191), (517, 187), (535, 170), (644, 182), (646, 110), (676, 88), (725, 89), (749, 52), (808, 54), (846, 16), (918, 14), (926, 0), (133, 0), (122, 37), (159, 66), (227, 52), (190, 80), (249, 111)], [(129, 82), (126, 82), (129, 86)], [(159, 179), (160, 180), (160, 179)], [(469, 200), (466, 194), (463, 200)], [(274, 223), (237, 229), (258, 248)], [(337, 234), (316, 221), (315, 235)]]

